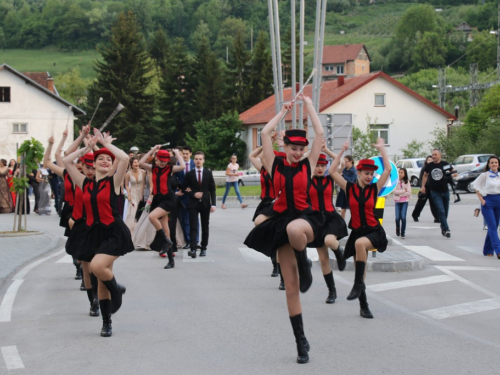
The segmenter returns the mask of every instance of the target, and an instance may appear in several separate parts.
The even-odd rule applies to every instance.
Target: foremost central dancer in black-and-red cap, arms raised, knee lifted
[[[323,218],[309,204],[311,164],[316,165],[321,150],[323,129],[310,98],[304,103],[315,131],[309,156],[302,159],[308,145],[306,131],[287,130],[284,137],[286,159],[275,157],[271,133],[290,104],[274,117],[262,130],[264,158],[273,178],[278,198],[273,205],[273,216],[257,225],[249,233],[245,244],[267,256],[278,253],[281,271],[286,284],[286,298],[290,322],[297,343],[297,362],[309,361],[309,343],[304,335],[299,289],[306,292],[312,284],[311,260],[307,258],[306,245],[314,240],[314,233],[323,227]],[[298,270],[298,273],[297,273]],[[300,287],[299,287],[300,285]]]

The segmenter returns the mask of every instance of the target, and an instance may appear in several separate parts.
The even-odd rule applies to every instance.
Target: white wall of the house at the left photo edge
[[[7,69],[0,70],[0,86],[11,88],[10,103],[0,103],[0,158],[16,158],[16,143],[20,146],[32,137],[46,147],[53,135],[56,147],[68,124],[69,108]],[[71,115],[63,149],[73,142],[73,120]],[[13,134],[13,123],[27,123],[28,132]]]

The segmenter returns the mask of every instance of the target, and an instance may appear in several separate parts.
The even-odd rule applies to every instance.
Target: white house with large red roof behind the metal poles
[[[285,101],[291,101],[291,91],[284,90]],[[304,94],[311,96],[311,91],[312,86],[307,86]],[[447,130],[456,120],[453,114],[383,72],[323,82],[319,112],[350,114],[353,126],[385,139],[391,158],[401,156],[402,149],[413,139],[426,143],[427,148],[436,128]],[[274,116],[274,95],[240,114],[247,152],[260,146],[260,131]],[[287,128],[291,121],[289,113],[285,117]],[[306,113],[302,121],[307,128]]]

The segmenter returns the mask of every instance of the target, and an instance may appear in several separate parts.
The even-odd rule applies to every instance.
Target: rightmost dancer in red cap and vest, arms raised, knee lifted
[[[342,150],[332,163],[331,176],[342,190],[346,192],[349,207],[351,208],[351,221],[349,228],[352,229],[344,251],[344,258],[354,256],[356,263],[356,273],[354,276],[354,286],[347,296],[348,300],[358,298],[360,305],[360,315],[363,318],[371,319],[373,314],[368,308],[366,299],[366,261],[368,250],[377,249],[383,252],[387,248],[387,237],[384,228],[380,225],[375,215],[375,205],[377,203],[378,192],[382,189],[391,175],[391,163],[387,152],[384,149],[384,140],[379,138],[374,144],[384,164],[384,172],[380,175],[376,184],[372,183],[374,172],[378,169],[371,159],[360,160],[356,169],[358,170],[358,180],[356,183],[347,182],[338,173],[337,168],[342,160],[342,154],[349,148],[348,142],[344,143]]]

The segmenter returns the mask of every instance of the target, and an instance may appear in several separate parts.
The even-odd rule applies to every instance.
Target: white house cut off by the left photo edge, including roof
[[[75,116],[85,112],[59,96],[49,73],[21,73],[0,65],[0,157],[16,158],[16,144],[32,137],[45,146],[68,127],[64,147],[73,142]]]

